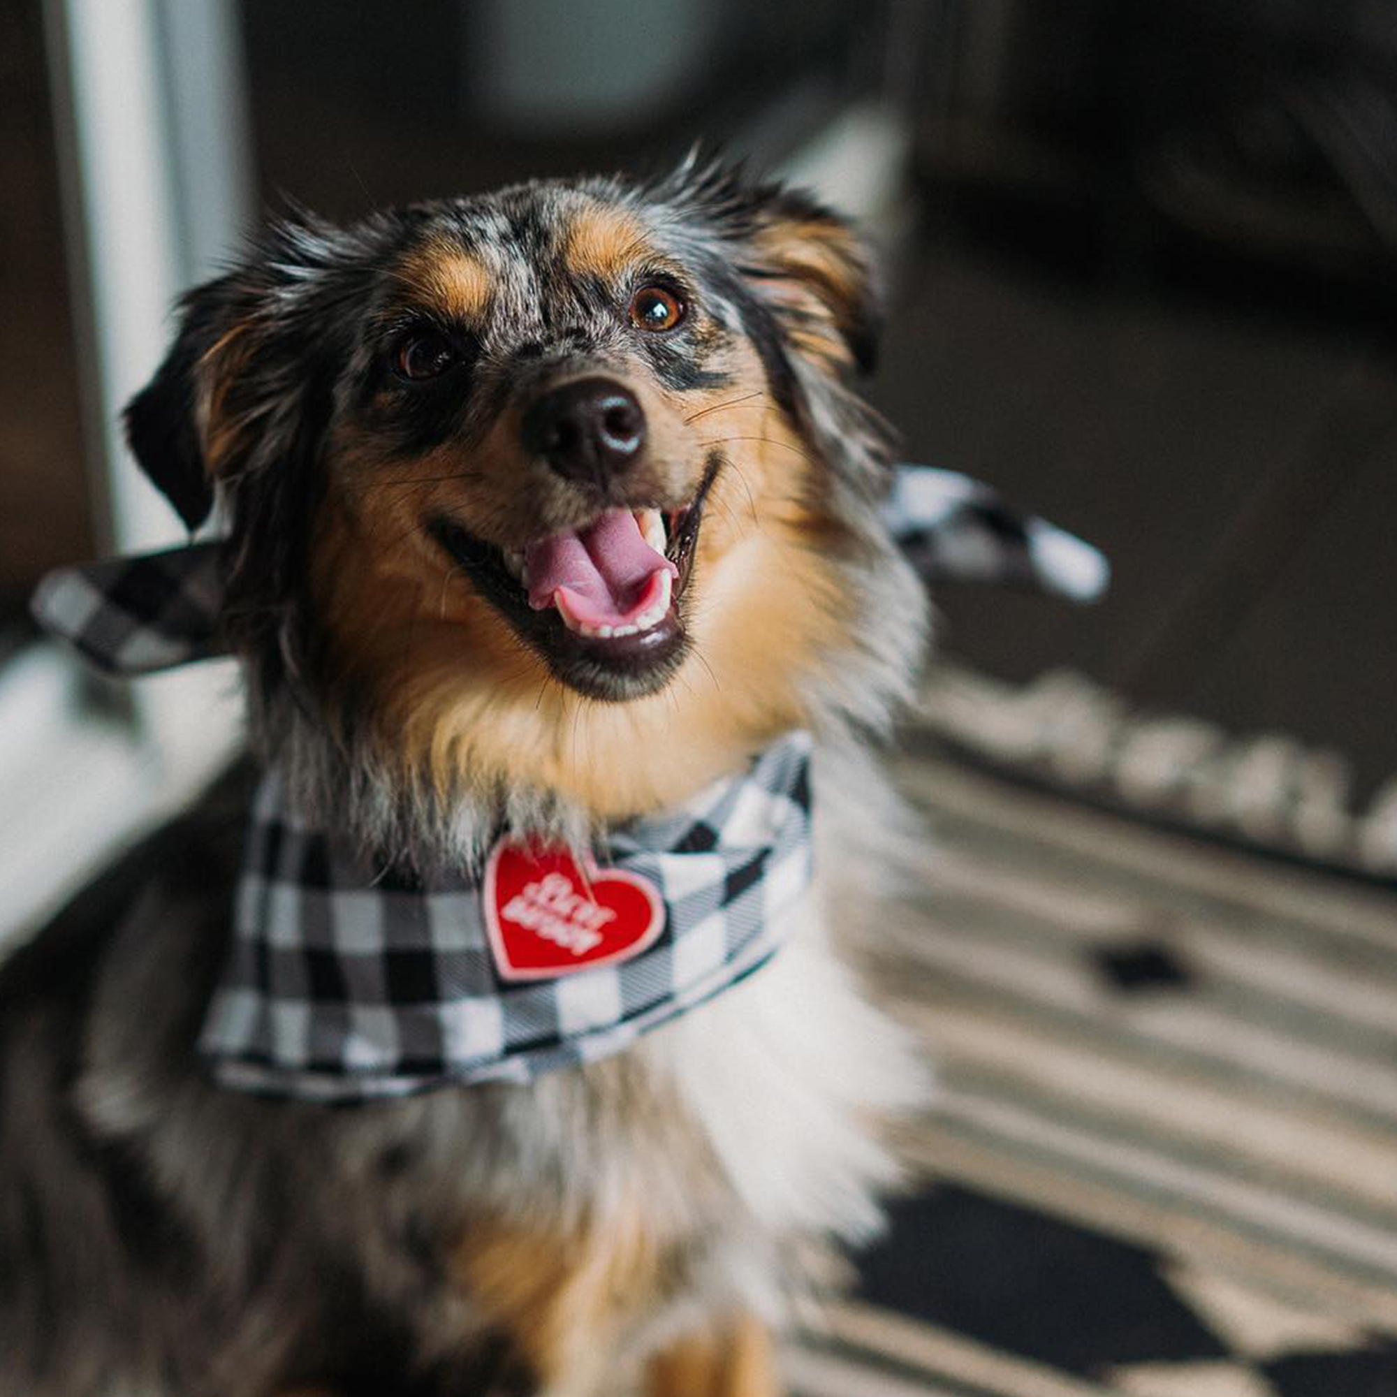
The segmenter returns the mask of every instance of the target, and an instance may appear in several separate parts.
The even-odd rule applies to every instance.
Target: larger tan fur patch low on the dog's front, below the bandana
[[[637,1211],[605,1229],[549,1234],[482,1222],[460,1274],[492,1329],[504,1331],[550,1397],[612,1390],[616,1340],[664,1285],[664,1252]]]

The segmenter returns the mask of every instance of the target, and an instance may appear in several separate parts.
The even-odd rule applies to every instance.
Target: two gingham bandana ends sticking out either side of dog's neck
[[[1034,587],[1073,601],[1105,591],[1109,569],[1090,543],[1013,513],[988,486],[956,471],[898,467],[883,514],[930,583]],[[219,549],[215,539],[60,567],[34,594],[34,616],[109,673],[204,659],[222,650]]]

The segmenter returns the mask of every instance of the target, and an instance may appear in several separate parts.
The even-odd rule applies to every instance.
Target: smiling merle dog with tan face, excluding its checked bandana
[[[855,387],[876,306],[845,221],[694,159],[296,212],[184,298],[129,439],[226,524],[222,640],[305,827],[394,887],[497,872],[502,831],[581,866],[809,733],[813,872],[778,953],[623,1051],[237,1090],[200,1049],[233,773],[0,978],[0,1394],[780,1391],[926,1083],[859,968],[912,830],[870,739],[928,626]]]

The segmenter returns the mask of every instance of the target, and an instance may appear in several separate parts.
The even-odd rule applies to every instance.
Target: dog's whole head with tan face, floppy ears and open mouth
[[[225,502],[267,742],[633,813],[915,658],[872,305],[842,221],[721,168],[299,217],[186,298],[129,433],[186,522]]]

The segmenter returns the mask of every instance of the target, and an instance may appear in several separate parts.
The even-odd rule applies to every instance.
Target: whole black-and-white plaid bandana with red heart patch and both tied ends
[[[1095,549],[951,471],[901,467],[884,520],[928,581],[1105,588]],[[221,548],[59,569],[35,617],[110,673],[219,654]],[[479,883],[365,865],[272,768],[201,1052],[224,1085],[326,1102],[619,1052],[775,953],[810,882],[809,754],[787,735],[742,775],[609,830],[595,865],[506,837]]]

